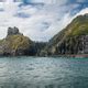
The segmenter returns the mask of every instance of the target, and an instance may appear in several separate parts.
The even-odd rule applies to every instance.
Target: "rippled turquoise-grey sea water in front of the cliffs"
[[[88,58],[0,57],[0,88],[88,88]]]

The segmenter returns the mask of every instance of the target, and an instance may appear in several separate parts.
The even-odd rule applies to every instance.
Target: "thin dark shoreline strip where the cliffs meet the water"
[[[0,57],[76,57],[88,58],[88,54],[59,54],[59,55],[0,55]]]

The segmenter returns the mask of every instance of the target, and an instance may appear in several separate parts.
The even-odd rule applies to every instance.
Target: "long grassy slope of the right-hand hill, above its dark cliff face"
[[[78,50],[78,37],[80,35],[87,34],[88,14],[79,15],[75,18],[73,22],[66,26],[66,29],[62,30],[52,40],[50,40],[50,43],[47,44],[46,48],[42,52],[47,53],[50,55],[51,53],[55,53],[56,48],[61,47],[61,45],[63,45],[64,43],[68,47],[68,50],[74,50],[76,52]]]

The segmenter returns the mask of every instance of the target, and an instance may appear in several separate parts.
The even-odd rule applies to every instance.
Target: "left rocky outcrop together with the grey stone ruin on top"
[[[33,42],[18,28],[9,28],[7,37],[0,41],[0,55],[32,55]]]

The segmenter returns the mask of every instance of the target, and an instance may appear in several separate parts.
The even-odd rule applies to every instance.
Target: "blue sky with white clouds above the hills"
[[[88,0],[0,0],[0,38],[16,26],[33,41],[47,42],[85,13]]]

